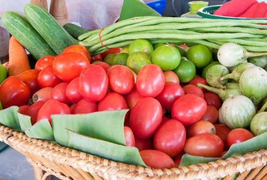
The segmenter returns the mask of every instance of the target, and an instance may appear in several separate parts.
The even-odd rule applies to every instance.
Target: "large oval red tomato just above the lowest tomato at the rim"
[[[183,151],[185,140],[184,125],[175,119],[169,119],[155,132],[153,145],[156,150],[162,151],[170,157],[175,157]]]

